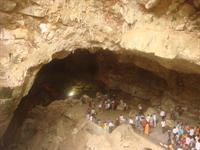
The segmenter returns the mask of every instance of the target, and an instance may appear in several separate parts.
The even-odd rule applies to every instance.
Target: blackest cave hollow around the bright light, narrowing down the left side
[[[96,55],[78,49],[64,59],[54,59],[37,74],[29,94],[22,98],[4,135],[4,144],[9,147],[17,137],[15,133],[27,114],[37,105],[47,106],[52,101],[87,94],[94,97],[97,91],[106,92],[103,82],[95,77],[98,73]],[[10,147],[9,147],[10,148]]]

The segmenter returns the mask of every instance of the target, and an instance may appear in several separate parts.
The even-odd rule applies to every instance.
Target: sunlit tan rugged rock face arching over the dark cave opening
[[[168,69],[199,74],[199,4],[0,0],[0,136],[40,67],[77,48],[128,50]]]

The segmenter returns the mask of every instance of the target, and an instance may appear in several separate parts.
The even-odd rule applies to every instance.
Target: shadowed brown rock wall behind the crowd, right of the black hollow
[[[150,58],[127,51],[98,51],[96,55],[99,66],[97,78],[111,89],[121,89],[143,100],[168,95],[179,104],[200,104],[199,74],[169,70]]]

